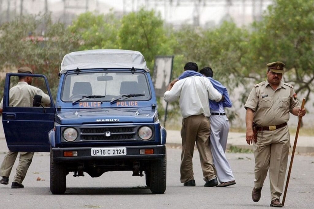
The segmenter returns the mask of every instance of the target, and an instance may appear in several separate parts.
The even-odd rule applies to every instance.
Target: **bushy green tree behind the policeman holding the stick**
[[[313,92],[313,2],[277,0],[261,22],[253,24],[251,58],[257,66],[280,60],[286,65],[284,79],[296,93]]]

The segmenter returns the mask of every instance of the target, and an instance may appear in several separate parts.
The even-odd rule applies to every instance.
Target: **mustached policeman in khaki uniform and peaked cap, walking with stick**
[[[272,62],[267,67],[267,81],[254,85],[244,106],[246,142],[253,144],[255,157],[252,200],[258,202],[261,198],[269,168],[270,206],[282,207],[280,196],[290,147],[289,112],[304,116],[306,110],[300,108],[293,86],[281,81],[284,63]]]

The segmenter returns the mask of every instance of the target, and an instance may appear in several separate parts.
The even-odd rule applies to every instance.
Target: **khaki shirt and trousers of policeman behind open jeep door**
[[[41,101],[43,104],[50,104],[50,97],[45,94],[41,89],[35,86],[28,85],[26,82],[19,82],[16,86],[10,89],[9,105],[10,107],[32,107],[35,95],[40,95],[42,97]],[[0,108],[3,108],[3,98],[0,102]],[[9,177],[18,153],[19,165],[16,168],[16,173],[13,181],[22,184],[30,163],[32,162],[34,156],[33,152],[11,152],[9,150],[1,164],[0,176]]]

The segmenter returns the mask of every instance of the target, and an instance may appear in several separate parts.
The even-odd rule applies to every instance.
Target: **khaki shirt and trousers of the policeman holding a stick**
[[[244,106],[254,111],[253,122],[259,126],[279,125],[289,120],[289,112],[300,103],[290,84],[281,82],[274,91],[268,81],[256,84]],[[269,168],[271,200],[280,199],[284,187],[290,146],[287,126],[273,131],[258,131],[253,144],[255,157],[254,187],[263,186]]]

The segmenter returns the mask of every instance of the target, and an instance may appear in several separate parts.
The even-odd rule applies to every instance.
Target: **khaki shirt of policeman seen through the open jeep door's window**
[[[22,81],[10,89],[10,107],[33,107],[35,95],[41,96],[41,103],[50,104],[50,97],[45,94],[40,88],[28,85]],[[3,98],[0,103],[0,108],[3,109]]]

